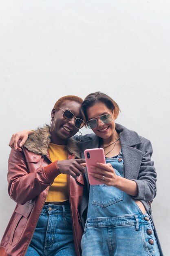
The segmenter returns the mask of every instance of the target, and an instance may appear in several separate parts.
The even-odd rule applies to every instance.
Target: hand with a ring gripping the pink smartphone
[[[115,173],[115,170],[110,163],[96,163],[96,166],[92,165],[91,168],[99,173],[89,173],[91,176],[94,177],[95,180],[98,180],[103,184],[106,184],[107,186],[116,186],[117,181],[119,180],[119,176]]]

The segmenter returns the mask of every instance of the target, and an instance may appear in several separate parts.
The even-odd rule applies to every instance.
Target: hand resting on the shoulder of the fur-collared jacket
[[[14,133],[9,141],[9,146],[15,150],[21,151],[21,147],[24,145],[31,133],[33,133],[31,130],[23,130],[21,132]]]

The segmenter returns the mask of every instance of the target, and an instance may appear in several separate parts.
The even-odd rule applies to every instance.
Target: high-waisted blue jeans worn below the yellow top
[[[76,256],[69,205],[44,205],[25,256]]]

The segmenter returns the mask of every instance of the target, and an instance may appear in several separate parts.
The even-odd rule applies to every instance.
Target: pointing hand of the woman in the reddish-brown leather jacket
[[[85,159],[69,159],[57,161],[57,168],[60,173],[71,175],[73,178],[76,178],[81,173],[85,174],[85,167],[82,165],[86,161]]]

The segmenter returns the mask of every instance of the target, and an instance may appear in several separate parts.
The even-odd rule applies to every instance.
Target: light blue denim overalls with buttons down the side
[[[106,158],[117,175],[124,177],[124,160]],[[113,187],[91,185],[82,256],[159,256],[153,225],[135,200]]]

